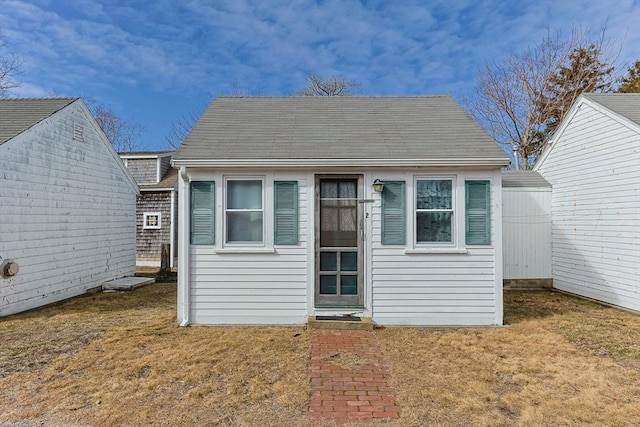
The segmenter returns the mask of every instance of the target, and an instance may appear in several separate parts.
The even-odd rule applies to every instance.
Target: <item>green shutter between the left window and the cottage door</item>
[[[298,181],[274,181],[274,243],[298,244]]]

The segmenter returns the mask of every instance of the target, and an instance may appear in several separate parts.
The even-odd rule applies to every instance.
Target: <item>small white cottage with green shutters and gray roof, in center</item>
[[[222,97],[174,155],[188,324],[502,324],[502,166],[449,96]]]

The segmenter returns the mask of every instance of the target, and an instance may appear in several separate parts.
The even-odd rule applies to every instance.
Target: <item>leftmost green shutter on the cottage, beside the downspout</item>
[[[215,243],[215,182],[191,183],[191,244]]]

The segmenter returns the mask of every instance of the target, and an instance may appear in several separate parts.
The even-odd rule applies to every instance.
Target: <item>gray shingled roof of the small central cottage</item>
[[[174,161],[221,159],[508,164],[506,154],[450,96],[219,97]]]

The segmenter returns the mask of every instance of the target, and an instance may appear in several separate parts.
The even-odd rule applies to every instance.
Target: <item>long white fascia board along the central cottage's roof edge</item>
[[[174,167],[421,167],[421,166],[506,166],[508,158],[488,159],[209,159],[176,160]]]

